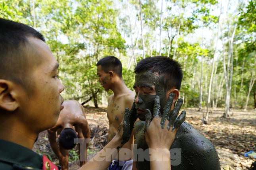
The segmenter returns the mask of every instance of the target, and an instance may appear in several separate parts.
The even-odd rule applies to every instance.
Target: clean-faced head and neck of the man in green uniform
[[[33,146],[63,109],[58,62],[35,29],[0,19],[0,139]]]

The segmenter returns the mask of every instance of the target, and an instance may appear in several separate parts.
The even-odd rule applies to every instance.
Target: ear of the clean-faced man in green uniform
[[[0,79],[0,108],[15,111],[19,107],[17,89],[11,81]]]

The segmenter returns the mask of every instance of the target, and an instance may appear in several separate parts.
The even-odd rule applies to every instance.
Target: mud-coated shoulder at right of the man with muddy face
[[[212,142],[187,122],[181,124],[171,148],[181,148],[183,156],[190,157],[190,161],[194,162],[193,169],[201,169],[197,167],[200,165],[204,169],[220,170],[218,154]]]

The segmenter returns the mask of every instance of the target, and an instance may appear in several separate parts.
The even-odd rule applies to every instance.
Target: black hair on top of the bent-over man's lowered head
[[[77,138],[77,133],[73,128],[64,128],[60,132],[59,144],[64,149],[73,149],[76,144],[74,144],[74,139]]]

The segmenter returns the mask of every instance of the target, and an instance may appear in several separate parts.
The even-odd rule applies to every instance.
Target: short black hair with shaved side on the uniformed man
[[[42,34],[34,28],[0,18],[0,79],[19,83],[25,89],[29,89],[28,81],[31,81],[26,75],[31,70],[27,64],[31,60],[35,60],[36,64],[40,63],[40,60],[27,56],[28,37],[45,41]]]

